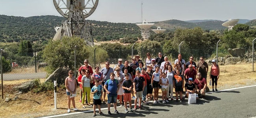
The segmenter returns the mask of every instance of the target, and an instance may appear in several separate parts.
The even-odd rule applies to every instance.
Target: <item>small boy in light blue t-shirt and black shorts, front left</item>
[[[96,105],[98,106],[99,114],[103,116],[104,114],[100,110],[102,87],[99,85],[99,80],[95,80],[95,86],[91,88],[91,94],[93,94],[93,116],[96,116]]]

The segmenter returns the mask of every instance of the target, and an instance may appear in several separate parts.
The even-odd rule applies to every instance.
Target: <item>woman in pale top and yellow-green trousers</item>
[[[93,106],[90,104],[90,93],[91,93],[91,87],[90,84],[93,83],[93,80],[91,79],[90,76],[90,71],[89,69],[85,70],[85,75],[82,77],[82,92],[83,92],[83,97],[82,97],[82,107],[85,108],[84,106],[84,99],[85,99],[85,93],[87,94],[87,101],[89,106]]]

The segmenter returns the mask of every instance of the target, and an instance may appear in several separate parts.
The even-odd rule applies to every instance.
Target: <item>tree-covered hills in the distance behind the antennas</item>
[[[54,37],[54,27],[60,26],[63,17],[46,15],[34,17],[15,17],[0,15],[0,42],[46,41]],[[140,29],[132,23],[113,23],[106,21],[88,20],[92,23],[93,37],[98,41],[106,41],[126,37],[126,35],[140,36]],[[201,27],[204,30],[223,30],[222,21],[184,22],[181,20],[165,20],[154,22],[151,29],[161,26],[163,29],[175,30],[177,28]]]

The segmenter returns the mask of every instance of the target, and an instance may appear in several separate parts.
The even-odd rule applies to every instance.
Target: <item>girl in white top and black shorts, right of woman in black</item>
[[[152,74],[152,79],[151,79],[151,85],[154,88],[154,104],[160,103],[158,101],[158,91],[159,91],[159,84],[160,84],[160,68],[156,67],[156,72]]]

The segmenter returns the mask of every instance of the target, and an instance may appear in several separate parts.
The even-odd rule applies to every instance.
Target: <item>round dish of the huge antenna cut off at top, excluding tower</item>
[[[79,7],[81,13],[83,13],[83,18],[89,17],[98,6],[98,0],[53,0],[54,6],[63,17],[68,18],[69,9],[71,3],[78,1],[77,6]],[[87,2],[86,2],[87,1]]]

